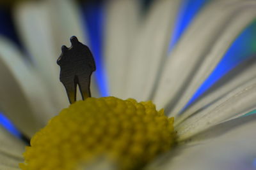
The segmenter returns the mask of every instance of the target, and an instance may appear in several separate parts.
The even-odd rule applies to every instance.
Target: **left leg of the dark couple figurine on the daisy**
[[[68,100],[70,104],[75,103],[76,101],[76,82],[74,78],[65,78],[65,80],[61,80],[61,83],[63,83],[67,95],[68,95]]]

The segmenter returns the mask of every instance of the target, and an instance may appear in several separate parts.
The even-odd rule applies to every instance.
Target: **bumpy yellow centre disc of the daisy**
[[[173,118],[150,101],[88,98],[62,110],[33,136],[20,168],[76,169],[104,156],[117,169],[138,169],[174,143]]]

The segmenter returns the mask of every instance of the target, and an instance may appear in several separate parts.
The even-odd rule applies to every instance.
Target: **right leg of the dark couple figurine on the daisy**
[[[91,92],[90,92],[90,76],[79,76],[78,77],[78,85],[79,85],[79,90],[81,92],[81,96],[84,99],[91,97]]]

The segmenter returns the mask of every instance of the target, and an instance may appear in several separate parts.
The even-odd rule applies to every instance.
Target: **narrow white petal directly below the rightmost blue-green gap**
[[[240,64],[235,69],[230,71],[226,76],[221,78],[219,83],[216,83],[209,92],[200,97],[195,104],[188,108],[188,110],[184,111],[182,114],[177,117],[174,125],[180,124],[184,119],[191,116],[196,111],[199,111],[202,108],[206,108],[210,104],[220,99],[220,97],[224,96],[228,92],[236,89],[237,87],[243,85],[249,80],[252,80],[256,77],[256,59],[246,60],[243,64]]]

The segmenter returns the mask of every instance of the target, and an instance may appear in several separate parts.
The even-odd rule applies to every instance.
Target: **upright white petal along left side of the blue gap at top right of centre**
[[[131,63],[128,65],[125,97],[141,101],[149,99],[152,94],[167,57],[179,4],[179,0],[154,1],[152,4],[129,53]]]

